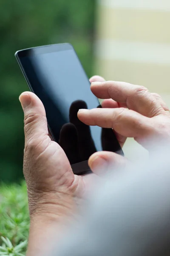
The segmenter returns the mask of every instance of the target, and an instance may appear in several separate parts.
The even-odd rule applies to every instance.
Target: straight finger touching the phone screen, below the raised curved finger
[[[126,108],[80,109],[78,118],[86,125],[113,128],[125,137],[142,138],[153,134],[151,119]]]

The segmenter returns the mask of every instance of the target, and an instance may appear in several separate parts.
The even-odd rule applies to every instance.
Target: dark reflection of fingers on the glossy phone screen
[[[70,106],[70,123],[62,126],[59,144],[65,151],[71,164],[88,160],[96,152],[91,130],[88,125],[82,123],[77,113],[79,109],[87,109],[87,104],[82,100],[74,101]]]

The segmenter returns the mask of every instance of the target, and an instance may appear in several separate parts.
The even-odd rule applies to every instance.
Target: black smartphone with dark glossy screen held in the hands
[[[54,44],[15,53],[29,89],[42,101],[51,139],[59,143],[74,174],[91,172],[88,158],[96,151],[123,155],[112,129],[88,126],[77,118],[80,108],[101,107],[71,44]]]

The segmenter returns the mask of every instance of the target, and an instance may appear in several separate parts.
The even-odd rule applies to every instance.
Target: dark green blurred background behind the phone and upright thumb
[[[69,42],[90,77],[95,4],[95,0],[0,0],[0,181],[23,178],[23,111],[18,97],[28,88],[14,53]]]

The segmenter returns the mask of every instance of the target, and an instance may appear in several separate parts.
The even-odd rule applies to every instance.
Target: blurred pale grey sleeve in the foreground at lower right
[[[111,172],[95,189],[57,256],[166,256],[170,244],[170,160]]]

